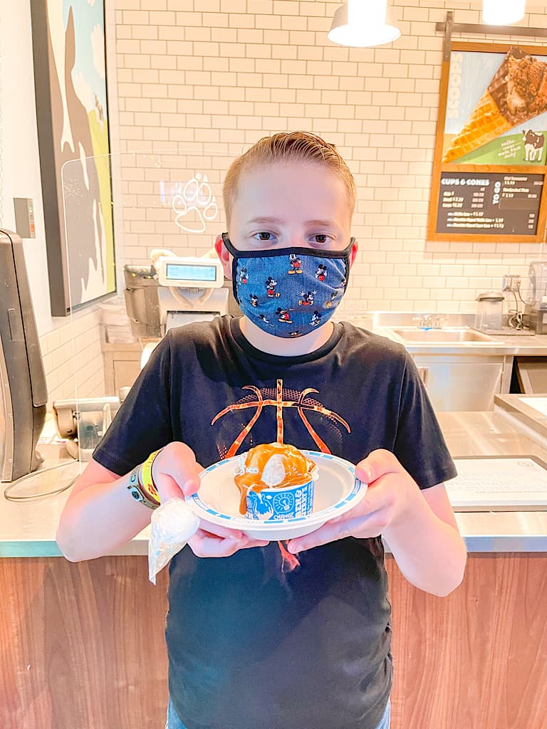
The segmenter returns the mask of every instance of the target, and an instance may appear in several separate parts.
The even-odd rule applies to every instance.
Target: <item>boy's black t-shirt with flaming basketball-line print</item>
[[[313,406],[313,407],[312,407]],[[456,471],[405,349],[335,324],[312,354],[252,347],[231,316],[171,330],[93,458],[123,475],[181,440],[204,467],[277,440],[354,464],[395,453],[420,488]],[[347,538],[282,569],[274,542],[171,560],[169,690],[188,729],[374,729],[392,680],[381,538]]]

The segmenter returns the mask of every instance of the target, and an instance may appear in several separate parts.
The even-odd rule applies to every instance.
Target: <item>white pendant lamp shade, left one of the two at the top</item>
[[[335,10],[327,38],[338,45],[371,48],[392,43],[400,37],[392,10],[387,2],[353,0]]]

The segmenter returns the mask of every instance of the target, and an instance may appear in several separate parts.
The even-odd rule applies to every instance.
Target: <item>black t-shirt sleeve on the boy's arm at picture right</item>
[[[457,475],[414,359],[408,353],[394,451],[420,488],[430,488]]]

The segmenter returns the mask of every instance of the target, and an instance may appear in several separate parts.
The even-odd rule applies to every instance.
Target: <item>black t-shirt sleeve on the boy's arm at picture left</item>
[[[93,459],[118,475],[131,471],[147,456],[171,443],[171,338],[154,348]]]

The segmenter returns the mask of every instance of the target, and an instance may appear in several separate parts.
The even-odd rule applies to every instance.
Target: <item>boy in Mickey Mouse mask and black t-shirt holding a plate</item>
[[[215,248],[243,316],[168,332],[74,486],[58,543],[73,561],[107,553],[150,521],[154,488],[161,501],[193,494],[201,467],[280,432],[352,461],[365,499],[287,542],[292,572],[276,543],[203,522],[171,560],[166,726],[387,729],[379,535],[414,585],[453,590],[465,566],[443,486],[454,464],[404,348],[331,319],[357,254],[354,180],[335,148],[262,139],[231,165],[224,198]]]

